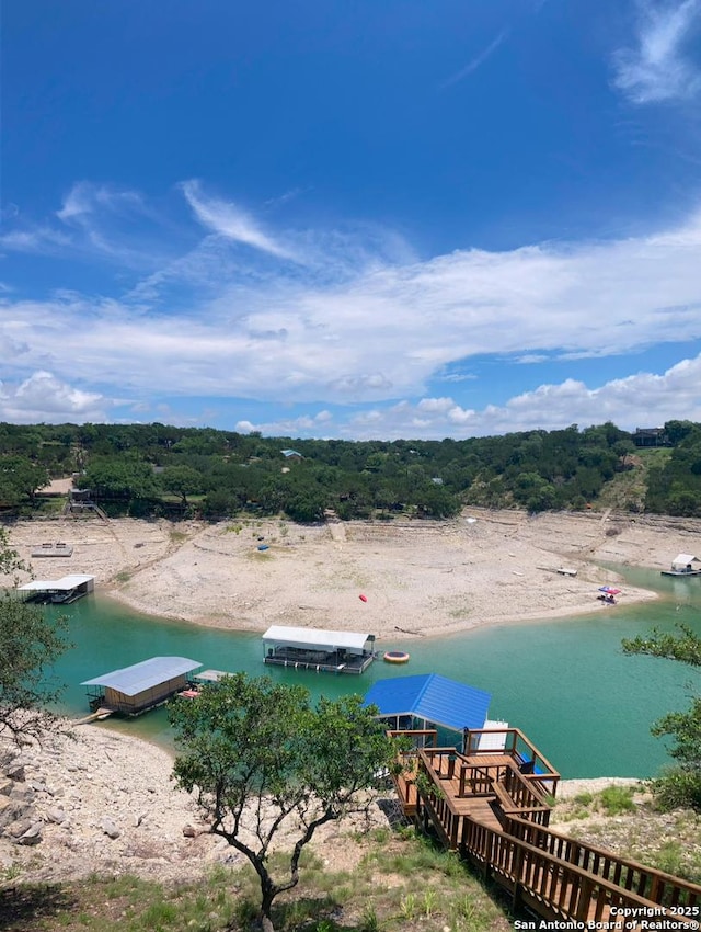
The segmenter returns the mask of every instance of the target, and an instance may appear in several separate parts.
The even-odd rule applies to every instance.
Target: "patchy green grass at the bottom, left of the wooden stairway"
[[[350,838],[334,844],[356,844]],[[510,932],[458,857],[423,837],[367,834],[347,868],[330,871],[306,852],[299,885],[274,907],[277,932]],[[359,860],[359,863],[358,863]],[[281,872],[285,857],[274,854]],[[166,885],[135,876],[26,885],[0,894],[0,927],[13,932],[249,932],[256,924],[257,877],[217,866],[199,883]],[[13,908],[14,907],[14,908]]]

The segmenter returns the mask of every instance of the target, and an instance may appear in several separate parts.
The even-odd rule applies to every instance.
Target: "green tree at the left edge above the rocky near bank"
[[[25,569],[0,528],[0,571]],[[16,583],[15,583],[16,584]],[[21,601],[16,592],[0,594],[0,737],[16,742],[39,737],[55,721],[48,706],[61,690],[51,672],[67,647],[65,623]]]

